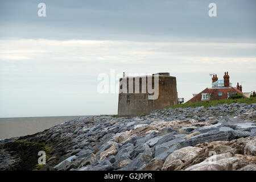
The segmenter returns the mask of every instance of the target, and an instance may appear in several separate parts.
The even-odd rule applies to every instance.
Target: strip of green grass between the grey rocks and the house
[[[253,104],[256,103],[256,97],[251,98],[238,98],[234,100],[221,100],[221,101],[200,101],[200,102],[189,102],[184,104],[177,104],[170,106],[171,108],[186,108],[186,107],[209,107],[209,106],[216,106],[218,104],[232,104],[232,103],[245,103],[245,104]],[[169,107],[169,108],[170,108]]]

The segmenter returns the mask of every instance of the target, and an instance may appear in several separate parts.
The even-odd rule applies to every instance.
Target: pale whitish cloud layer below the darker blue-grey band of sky
[[[256,86],[254,43],[2,39],[0,47],[0,115],[5,116],[22,113],[20,107],[29,115],[31,106],[23,104],[27,98],[36,103],[35,113],[44,110],[51,115],[47,103],[61,108],[67,102],[76,104],[79,112],[68,104],[56,113],[102,114],[106,105],[97,103],[104,99],[107,114],[115,114],[118,95],[97,93],[98,74],[110,74],[110,69],[116,74],[170,72],[176,76],[179,97],[185,100],[210,86],[209,73],[221,78],[229,71],[230,81],[246,81],[245,90]],[[92,107],[86,106],[83,113],[86,103]]]

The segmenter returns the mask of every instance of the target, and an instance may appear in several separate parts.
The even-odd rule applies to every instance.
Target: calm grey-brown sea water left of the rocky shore
[[[30,135],[81,116],[0,118],[0,139]]]

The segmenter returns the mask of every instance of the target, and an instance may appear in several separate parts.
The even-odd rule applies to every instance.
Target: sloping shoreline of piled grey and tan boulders
[[[80,117],[1,140],[0,170],[227,170],[226,164],[232,170],[256,169],[255,114],[256,104],[233,103],[138,117]],[[38,165],[38,150],[46,151],[46,165]],[[204,165],[209,150],[220,156],[218,168]],[[193,158],[184,158],[188,152]]]

